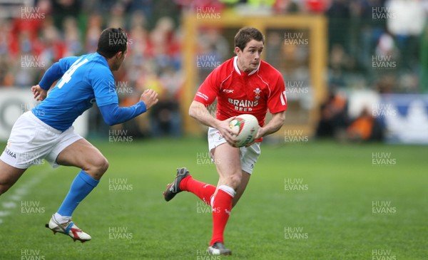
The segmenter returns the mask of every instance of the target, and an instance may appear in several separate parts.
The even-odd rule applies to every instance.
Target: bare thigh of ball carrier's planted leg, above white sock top
[[[226,184],[236,189],[242,177],[239,148],[224,143],[211,150],[211,153],[220,175],[219,185]]]

